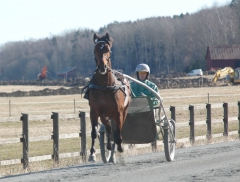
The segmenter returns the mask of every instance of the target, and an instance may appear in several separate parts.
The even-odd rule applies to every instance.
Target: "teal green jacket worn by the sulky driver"
[[[149,86],[150,88],[152,88],[154,91],[158,93],[158,87],[153,82],[149,80],[145,80],[145,81],[139,80],[139,81],[142,83],[145,83],[147,86]],[[153,101],[153,106],[158,105],[159,99],[156,98],[155,94],[152,93],[147,88],[137,84],[136,82],[131,82],[131,89],[132,89],[132,97],[149,96]]]

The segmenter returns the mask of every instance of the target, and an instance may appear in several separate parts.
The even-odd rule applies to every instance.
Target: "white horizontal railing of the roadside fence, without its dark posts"
[[[230,103],[229,106],[237,106],[236,103]],[[212,108],[222,108],[222,104],[212,104]],[[176,107],[177,110],[188,110],[188,107]],[[206,105],[197,105],[195,106],[196,109],[206,109]],[[166,110],[170,111],[170,108],[166,108]],[[89,117],[88,113],[85,113],[85,117]],[[79,119],[79,114],[60,114],[59,115],[60,119],[66,119],[66,118],[75,118]],[[37,120],[50,120],[51,116],[50,115],[38,115],[38,116],[29,116],[29,121],[37,121]],[[5,118],[0,118],[0,122],[16,122],[20,120],[19,117],[5,117]],[[238,121],[238,117],[231,117],[228,118],[228,121]],[[212,123],[222,123],[223,119],[213,119]],[[204,121],[197,121],[194,123],[194,125],[204,125],[206,124],[206,120]],[[189,122],[181,122],[181,123],[176,123],[177,127],[186,127],[189,126]],[[231,131],[228,133],[228,136],[230,135],[236,135],[238,134],[238,131]],[[90,136],[90,132],[86,132],[86,136]],[[212,134],[212,138],[217,138],[217,137],[222,137],[223,133],[218,133],[218,134]],[[60,134],[59,139],[67,139],[67,138],[79,138],[80,135],[79,133],[70,133],[70,134]],[[206,135],[203,136],[196,136],[195,140],[204,140],[207,139]],[[30,142],[36,142],[36,141],[46,141],[46,140],[52,140],[52,136],[38,136],[38,137],[29,137]],[[189,142],[189,138],[181,138],[178,139],[178,142]],[[10,144],[10,143],[19,143],[20,138],[7,138],[7,139],[0,139],[0,145],[3,144]],[[158,142],[158,145],[162,145],[162,142]],[[128,145],[125,145],[127,147]],[[149,147],[149,144],[137,144],[135,145],[137,148],[140,147]],[[96,153],[100,153],[99,150],[96,151]],[[87,152],[87,155],[89,155],[89,152]],[[81,156],[81,152],[70,152],[70,153],[61,153],[59,154],[59,158],[68,158],[68,157],[76,157],[76,156]],[[43,156],[35,156],[35,157],[29,157],[29,162],[35,162],[35,161],[43,161],[43,160],[51,160],[52,155],[43,155]],[[12,164],[20,164],[21,159],[10,159],[10,160],[2,160],[0,161],[0,166],[4,165],[12,165]]]

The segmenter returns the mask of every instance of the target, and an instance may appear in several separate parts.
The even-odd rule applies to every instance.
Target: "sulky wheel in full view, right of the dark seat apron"
[[[176,135],[176,128],[175,128],[175,121],[169,120],[169,126],[164,128],[164,136],[163,136],[163,143],[164,143],[164,151],[165,156],[168,162],[174,160],[175,156],[175,135]]]

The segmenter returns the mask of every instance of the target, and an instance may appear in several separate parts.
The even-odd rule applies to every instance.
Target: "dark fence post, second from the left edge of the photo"
[[[58,125],[58,113],[52,112],[51,119],[53,119],[53,135],[51,138],[53,139],[53,155],[52,159],[55,164],[59,164],[59,125]]]

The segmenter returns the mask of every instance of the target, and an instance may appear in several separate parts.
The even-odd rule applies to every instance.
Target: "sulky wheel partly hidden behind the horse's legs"
[[[107,149],[107,135],[105,132],[100,132],[99,144],[100,144],[100,153],[101,153],[102,161],[104,163],[107,163],[111,156],[111,150]]]

